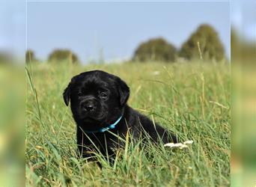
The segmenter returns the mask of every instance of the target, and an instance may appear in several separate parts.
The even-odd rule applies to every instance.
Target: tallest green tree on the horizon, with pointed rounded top
[[[215,29],[203,24],[183,43],[179,55],[189,60],[204,58],[219,61],[225,58],[225,50]]]

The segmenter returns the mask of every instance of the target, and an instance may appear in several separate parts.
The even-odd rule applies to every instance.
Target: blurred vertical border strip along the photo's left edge
[[[25,9],[0,1],[0,186],[25,186]]]

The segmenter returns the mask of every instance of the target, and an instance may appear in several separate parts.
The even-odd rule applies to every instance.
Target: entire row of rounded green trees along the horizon
[[[178,50],[163,37],[142,42],[135,49],[132,61],[190,61],[192,59],[221,61],[225,59],[225,49],[216,30],[207,24],[200,25]],[[38,61],[32,50],[25,54],[26,63]],[[69,49],[55,49],[48,57],[49,62],[70,61],[79,63],[79,58]]]

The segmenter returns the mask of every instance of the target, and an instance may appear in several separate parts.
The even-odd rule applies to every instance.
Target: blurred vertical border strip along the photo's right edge
[[[255,10],[255,1],[231,1],[232,186],[256,186]]]

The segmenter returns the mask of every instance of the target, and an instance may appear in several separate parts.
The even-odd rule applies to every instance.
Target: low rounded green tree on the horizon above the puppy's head
[[[79,63],[79,58],[69,49],[55,49],[48,57],[49,62],[69,61],[72,64]]]

